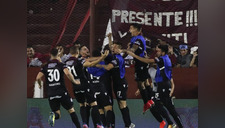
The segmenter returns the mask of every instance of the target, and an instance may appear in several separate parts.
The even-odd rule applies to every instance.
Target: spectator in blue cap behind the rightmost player
[[[180,55],[177,58],[177,66],[176,67],[190,67],[192,55],[188,53],[187,45],[180,45]]]

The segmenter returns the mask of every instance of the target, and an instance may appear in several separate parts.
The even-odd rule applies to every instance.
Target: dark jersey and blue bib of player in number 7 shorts
[[[125,62],[123,57],[120,54],[113,55],[110,63],[114,66],[111,69],[113,84],[121,84],[125,80]]]

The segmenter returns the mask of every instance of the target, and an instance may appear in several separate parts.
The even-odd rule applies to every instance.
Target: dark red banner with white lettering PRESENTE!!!
[[[139,23],[145,37],[198,45],[197,0],[110,0],[110,7],[112,32],[118,40],[128,41],[129,24]]]

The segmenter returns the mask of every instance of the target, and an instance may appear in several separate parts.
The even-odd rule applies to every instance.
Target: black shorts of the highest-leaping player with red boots
[[[147,66],[135,66],[135,80],[136,81],[145,81],[150,78],[148,73],[148,65]]]

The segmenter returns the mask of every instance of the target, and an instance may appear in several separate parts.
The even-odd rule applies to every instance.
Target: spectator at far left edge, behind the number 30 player
[[[41,53],[36,53],[32,46],[27,46],[27,67],[40,67],[42,65]]]

